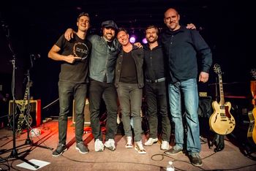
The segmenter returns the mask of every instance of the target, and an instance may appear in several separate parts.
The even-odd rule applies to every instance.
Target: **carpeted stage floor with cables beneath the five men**
[[[209,148],[208,143],[202,141],[200,156],[203,159],[203,166],[194,167],[184,153],[166,156],[164,151],[160,150],[159,142],[146,146],[146,154],[139,154],[134,148],[127,149],[124,147],[126,139],[122,135],[115,137],[116,151],[105,149],[103,152],[95,152],[93,136],[90,132],[86,132],[83,138],[90,152],[81,154],[75,150],[75,127],[72,119],[69,119],[68,123],[69,149],[62,156],[53,157],[50,148],[56,148],[58,144],[58,121],[49,121],[37,129],[40,129],[42,134],[31,140],[47,148],[24,145],[27,139],[26,132],[16,137],[15,146],[18,156],[25,155],[26,160],[37,159],[50,163],[39,170],[166,170],[168,161],[173,161],[176,170],[256,170],[256,161],[244,156],[241,148],[227,137],[225,137],[225,148],[219,152],[214,152],[215,146]],[[146,142],[147,137],[148,135],[143,136],[143,142]],[[172,143],[170,144],[173,145]],[[0,129],[0,170],[26,170],[17,166],[24,161],[9,157],[12,148],[12,130]],[[5,158],[8,158],[7,161],[4,161]]]

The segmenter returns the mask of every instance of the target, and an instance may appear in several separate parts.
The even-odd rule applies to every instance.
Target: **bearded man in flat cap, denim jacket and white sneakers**
[[[92,45],[89,65],[89,108],[91,113],[91,129],[95,139],[95,151],[104,151],[104,146],[111,151],[116,150],[114,137],[116,134],[118,107],[113,78],[116,58],[120,49],[120,44],[115,39],[117,28],[113,20],[106,20],[102,22],[102,37],[96,34],[87,37]],[[72,37],[72,29],[69,28],[65,33],[65,37],[69,39],[70,36]],[[99,109],[102,96],[108,110],[107,132],[104,145],[99,123]]]

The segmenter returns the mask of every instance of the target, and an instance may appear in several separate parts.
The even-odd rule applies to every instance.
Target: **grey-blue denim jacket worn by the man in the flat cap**
[[[113,83],[116,58],[121,45],[117,39],[114,39],[114,50],[109,50],[107,42],[103,37],[91,35],[87,39],[91,42],[89,77],[93,80],[103,82],[106,75],[107,83]]]

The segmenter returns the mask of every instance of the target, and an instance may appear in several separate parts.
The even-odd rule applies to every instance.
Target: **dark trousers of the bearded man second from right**
[[[157,138],[158,115],[162,117],[162,140],[170,141],[170,119],[167,110],[165,81],[145,84],[147,112],[149,116],[149,137]]]

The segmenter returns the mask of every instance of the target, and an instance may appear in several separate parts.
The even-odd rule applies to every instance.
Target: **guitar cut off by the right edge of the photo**
[[[255,142],[256,144],[256,122],[255,122],[255,118],[256,118],[256,69],[252,69],[251,71],[252,73],[252,77],[255,80],[251,81],[251,92],[252,92],[252,104],[254,106],[252,111],[249,111],[248,113],[248,117],[249,117],[249,129],[247,132],[247,138],[249,140],[253,140],[253,142]]]

